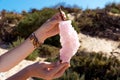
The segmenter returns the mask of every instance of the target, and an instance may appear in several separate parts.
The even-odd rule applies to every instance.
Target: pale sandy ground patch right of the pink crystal
[[[80,50],[96,53],[102,52],[107,56],[110,56],[112,53],[114,56],[120,57],[120,48],[118,48],[120,41],[90,37],[82,33],[79,33],[78,36],[81,42]]]

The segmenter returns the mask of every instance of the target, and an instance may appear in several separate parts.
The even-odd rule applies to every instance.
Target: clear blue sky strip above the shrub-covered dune
[[[16,12],[29,11],[31,8],[42,9],[62,2],[65,5],[77,5],[82,9],[95,9],[96,7],[104,8],[111,2],[120,3],[120,0],[0,0],[0,11],[3,9]]]

